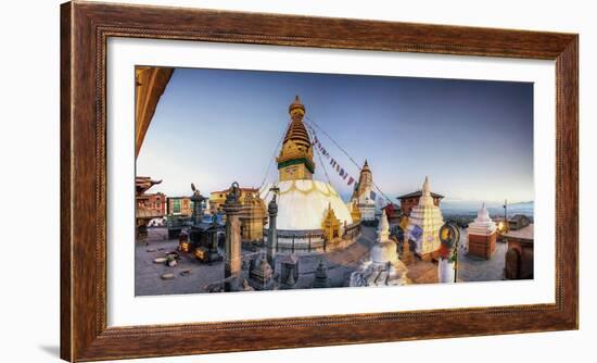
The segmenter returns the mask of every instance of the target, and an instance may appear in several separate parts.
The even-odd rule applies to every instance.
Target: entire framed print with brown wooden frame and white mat
[[[577,35],[61,12],[63,359],[577,328]]]

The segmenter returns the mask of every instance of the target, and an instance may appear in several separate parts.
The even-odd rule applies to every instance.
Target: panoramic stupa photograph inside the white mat
[[[533,83],[135,82],[137,297],[533,279]]]

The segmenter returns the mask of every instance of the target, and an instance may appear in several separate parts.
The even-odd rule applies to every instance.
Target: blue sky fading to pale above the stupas
[[[162,96],[137,175],[152,191],[206,195],[258,187],[300,95],[307,116],[353,159],[365,159],[389,197],[421,188],[453,201],[533,200],[533,85],[530,83],[177,68]],[[358,170],[321,133],[330,154]],[[331,184],[352,187],[326,162]],[[277,178],[272,164],[268,182]],[[327,180],[316,157],[315,178]]]

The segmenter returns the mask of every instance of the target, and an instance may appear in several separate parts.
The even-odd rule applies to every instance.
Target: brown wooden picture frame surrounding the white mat
[[[105,65],[110,37],[555,60],[556,302],[107,327]],[[61,48],[63,359],[90,361],[577,328],[577,35],[75,1],[61,8]]]

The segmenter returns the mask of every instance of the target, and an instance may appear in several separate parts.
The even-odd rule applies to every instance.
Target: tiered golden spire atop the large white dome
[[[303,123],[305,105],[295,97],[288,109],[291,117],[284,135],[280,155],[277,158],[280,180],[313,179],[315,163],[309,134]]]

